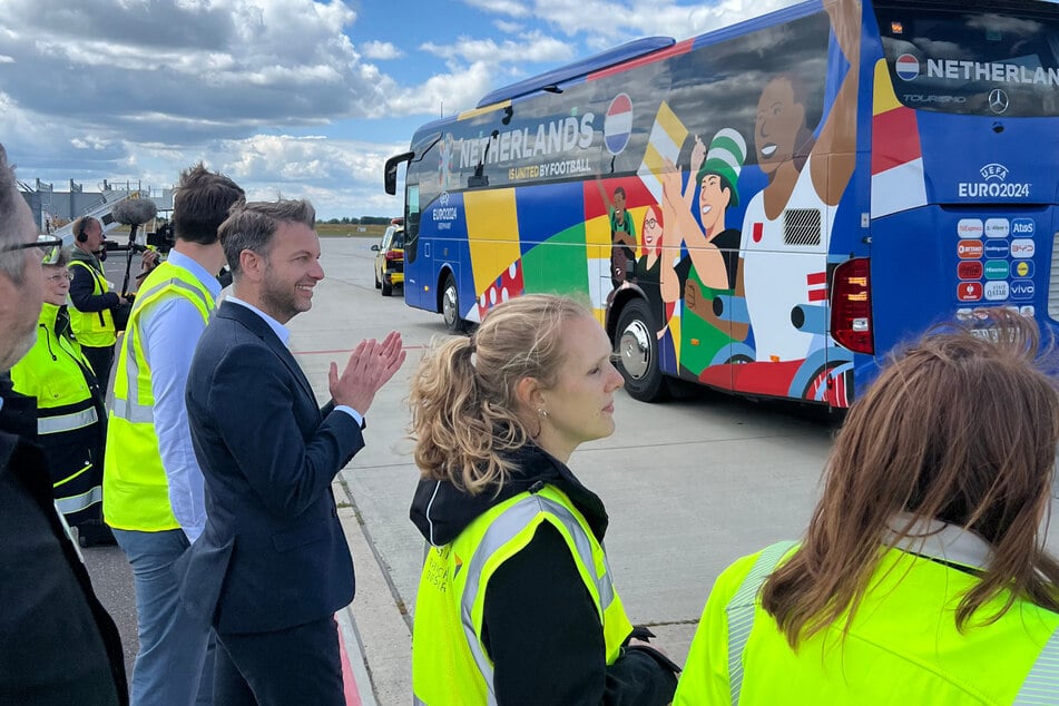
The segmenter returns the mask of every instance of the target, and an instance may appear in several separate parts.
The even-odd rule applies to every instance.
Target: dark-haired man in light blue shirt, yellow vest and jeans
[[[140,285],[115,373],[104,517],[133,567],[139,653],[134,706],[212,703],[209,630],[178,604],[173,563],[206,526],[203,472],[184,400],[225,264],[217,227],[243,189],[203,165],[174,194],[176,244]],[[149,394],[146,388],[149,386]]]

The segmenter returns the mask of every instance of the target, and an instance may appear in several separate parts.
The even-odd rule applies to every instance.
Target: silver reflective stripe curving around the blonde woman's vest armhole
[[[504,510],[490,523],[489,529],[486,530],[486,535],[474,550],[474,556],[471,557],[471,560],[468,562],[468,573],[464,579],[467,588],[460,601],[463,618],[463,634],[464,637],[467,637],[467,644],[471,649],[471,655],[473,655],[474,661],[478,664],[478,668],[486,679],[486,685],[489,688],[490,705],[497,703],[492,684],[492,665],[489,661],[489,657],[482,651],[478,635],[474,631],[474,620],[472,618],[474,601],[481,588],[482,570],[493,553],[514,539],[514,537],[526,529],[533,518],[542,511],[556,517],[562,526],[566,527],[570,537],[573,538],[578,560],[581,565],[586,567],[596,566],[592,558],[592,546],[585,535],[580,522],[577,521],[577,518],[575,518],[567,508],[553,500],[542,498],[539,494],[529,496]],[[595,573],[595,570],[592,572]],[[601,614],[606,611],[614,601],[614,585],[610,581],[609,566],[604,575],[596,580],[596,588],[599,596],[600,620],[602,620]]]

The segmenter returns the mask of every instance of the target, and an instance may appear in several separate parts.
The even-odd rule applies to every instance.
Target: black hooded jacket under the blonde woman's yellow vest
[[[513,459],[519,471],[494,494],[465,493],[448,481],[420,481],[412,522],[434,546],[449,543],[478,516],[546,484],[565,492],[602,541],[607,511],[569,468],[536,445]],[[499,704],[668,704],[676,665],[649,647],[626,647],[606,664],[602,626],[558,530],[542,523],[533,539],[497,569],[486,589],[482,640],[493,660]],[[630,637],[649,637],[636,628]]]

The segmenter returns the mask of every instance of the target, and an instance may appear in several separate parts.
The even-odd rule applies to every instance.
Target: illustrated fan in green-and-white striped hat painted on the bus
[[[702,139],[695,138],[692,149],[690,173],[683,198],[674,203],[667,190],[667,206],[675,216],[677,234],[684,241],[687,256],[675,266],[665,263],[670,273],[664,278],[683,283],[683,287],[663,286],[663,296],[684,297],[680,332],[680,365],[696,376],[714,362],[717,352],[733,339],[746,337],[746,322],[723,321],[714,314],[713,300],[717,294],[739,295],[738,259],[742,234],[738,228],[725,227],[725,213],[739,204],[738,178],[746,159],[746,141],[738,131],[724,128],[714,135],[707,150]],[[692,208],[698,193],[698,220]],[[699,226],[702,224],[702,226]],[[667,276],[668,275],[668,276]],[[727,282],[727,290],[717,290],[706,282]],[[666,301],[671,301],[667,298]],[[692,341],[696,343],[690,344]]]

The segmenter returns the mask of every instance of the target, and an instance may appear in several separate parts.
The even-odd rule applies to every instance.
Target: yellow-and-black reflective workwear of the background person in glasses
[[[45,303],[37,342],[11,367],[16,392],[37,399],[38,441],[48,459],[56,504],[71,524],[98,519],[102,500],[102,393],[69,332],[66,307]],[[94,514],[95,518],[88,517]]]

